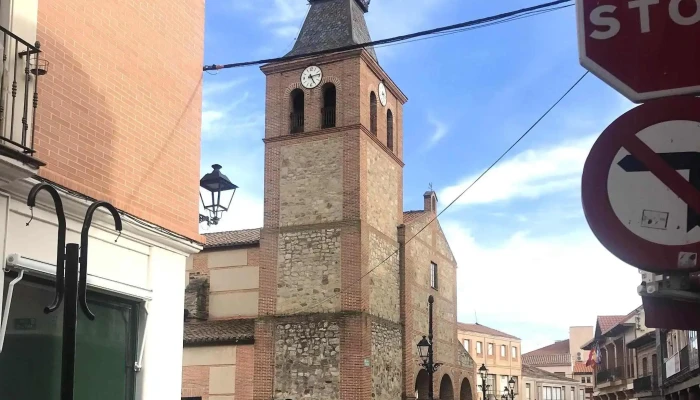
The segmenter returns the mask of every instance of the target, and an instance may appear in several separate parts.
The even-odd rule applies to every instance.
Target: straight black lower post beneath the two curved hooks
[[[73,400],[75,385],[75,333],[78,325],[78,248],[76,243],[68,243],[66,245],[61,400]]]

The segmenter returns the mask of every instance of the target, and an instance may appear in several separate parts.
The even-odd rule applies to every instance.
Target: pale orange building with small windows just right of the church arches
[[[489,396],[500,398],[508,381],[515,381],[515,392],[523,393],[522,359],[520,339],[499,330],[478,323],[457,325],[457,337],[472,356],[476,365],[488,368],[487,385]],[[481,376],[477,377],[481,385]],[[479,398],[483,397],[477,390]]]

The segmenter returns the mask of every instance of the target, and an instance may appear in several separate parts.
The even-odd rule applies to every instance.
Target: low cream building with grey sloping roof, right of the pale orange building
[[[571,379],[523,364],[523,391],[520,400],[584,400],[585,386]]]

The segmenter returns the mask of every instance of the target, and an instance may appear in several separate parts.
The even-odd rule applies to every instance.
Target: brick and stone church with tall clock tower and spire
[[[289,55],[369,41],[368,6],[310,1]],[[264,226],[245,260],[236,248],[244,232],[210,235],[207,246],[217,247],[193,257],[182,396],[425,399],[416,345],[428,334],[432,295],[435,396],[472,398],[474,362],[457,339],[457,264],[435,220],[437,196],[402,209],[407,97],[369,47],[261,69]]]

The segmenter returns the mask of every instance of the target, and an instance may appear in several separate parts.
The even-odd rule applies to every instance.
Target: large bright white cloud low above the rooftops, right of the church
[[[458,310],[469,318],[509,326],[544,325],[512,333],[523,346],[547,344],[569,326],[594,325],[596,315],[626,314],[639,306],[637,270],[610,254],[587,229],[534,237],[516,232],[499,244],[478,243],[456,221],[442,223],[458,269]]]

